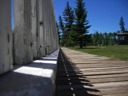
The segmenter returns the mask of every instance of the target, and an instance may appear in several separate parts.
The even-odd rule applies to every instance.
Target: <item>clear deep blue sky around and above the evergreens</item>
[[[66,1],[70,6],[75,7],[76,0],[54,0],[55,16],[58,16],[66,6]],[[120,17],[124,18],[125,28],[128,29],[128,0],[84,0],[88,11],[87,19],[90,22],[90,33],[116,32],[120,30]]]

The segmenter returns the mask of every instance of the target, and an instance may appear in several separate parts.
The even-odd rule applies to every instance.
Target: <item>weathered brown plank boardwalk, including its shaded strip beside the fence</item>
[[[128,96],[128,62],[62,51],[56,96]]]

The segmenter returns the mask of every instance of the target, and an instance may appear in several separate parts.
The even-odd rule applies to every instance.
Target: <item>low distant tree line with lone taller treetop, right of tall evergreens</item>
[[[88,42],[88,45],[102,46],[102,45],[115,45],[118,44],[118,39],[122,37],[117,37],[117,33],[128,33],[128,30],[125,28],[125,23],[123,17],[119,21],[120,30],[117,32],[98,32],[91,34],[91,40]],[[125,36],[124,36],[125,37]],[[128,37],[123,38],[128,40]]]

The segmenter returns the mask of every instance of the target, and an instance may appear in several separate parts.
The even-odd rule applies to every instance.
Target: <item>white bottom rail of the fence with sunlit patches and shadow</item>
[[[0,96],[53,96],[57,60],[45,58],[0,75]]]

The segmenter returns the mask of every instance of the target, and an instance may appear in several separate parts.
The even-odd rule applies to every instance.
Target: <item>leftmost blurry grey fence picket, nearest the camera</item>
[[[13,61],[10,9],[10,0],[0,0],[0,74],[12,69]]]

